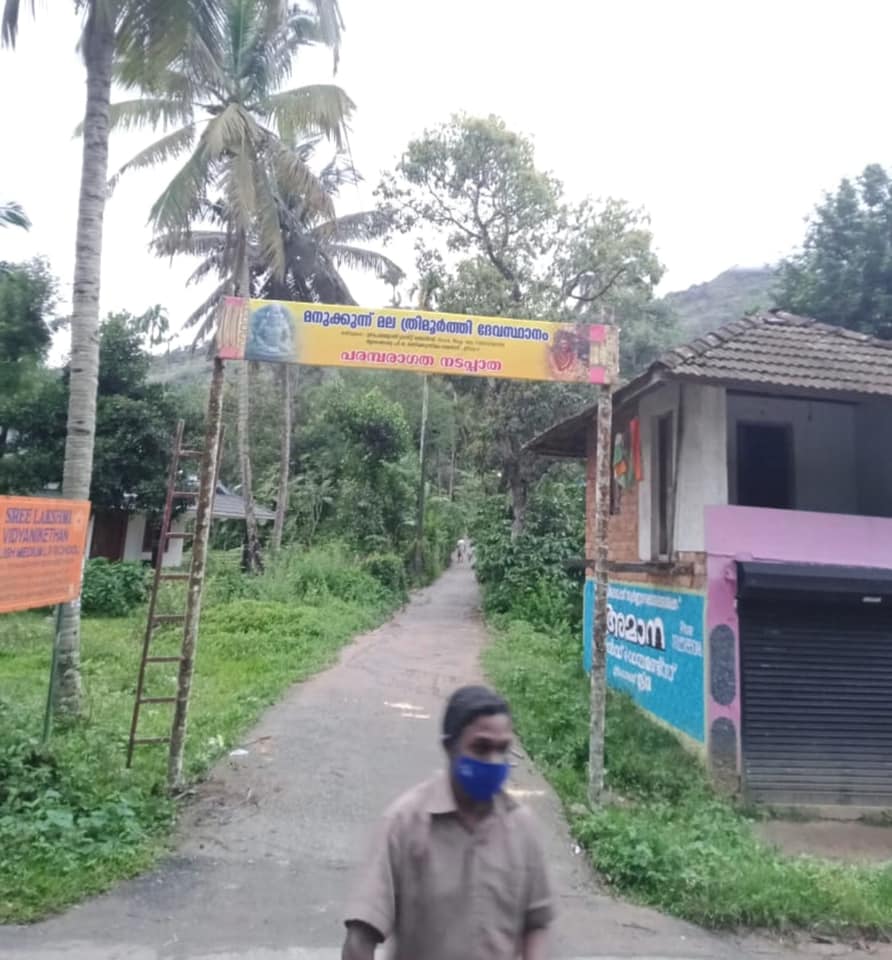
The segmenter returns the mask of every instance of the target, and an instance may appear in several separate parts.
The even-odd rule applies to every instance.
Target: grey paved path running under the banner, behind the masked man
[[[372,823],[442,763],[444,699],[479,678],[478,602],[462,568],[417,594],[264,716],[245,738],[247,754],[221,763],[203,785],[174,856],[63,916],[0,929],[0,957],[336,960],[345,890]],[[528,760],[511,782],[547,844],[559,891],[556,958],[802,956],[770,941],[715,937],[606,896]]]

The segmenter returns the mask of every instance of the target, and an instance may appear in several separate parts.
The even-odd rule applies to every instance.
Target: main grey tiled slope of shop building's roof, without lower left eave
[[[735,320],[670,350],[654,366],[729,386],[892,396],[892,343],[790,313]]]

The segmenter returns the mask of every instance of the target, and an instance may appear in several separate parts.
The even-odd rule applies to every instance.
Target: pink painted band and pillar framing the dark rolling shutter
[[[740,623],[737,617],[738,560],[837,564],[892,569],[892,519],[855,517],[756,507],[706,508],[706,728],[707,742],[716,720],[737,732],[740,772]],[[735,638],[736,694],[727,705],[710,689],[709,647],[722,625]]]

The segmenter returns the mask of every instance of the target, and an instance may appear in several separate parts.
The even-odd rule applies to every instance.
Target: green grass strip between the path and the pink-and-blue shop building
[[[610,802],[586,802],[588,680],[568,633],[492,621],[484,654],[525,747],[549,778],[599,873],[634,899],[708,927],[892,932],[892,866],[786,857],[742,808],[717,796],[699,760],[630,699],[611,693]]]

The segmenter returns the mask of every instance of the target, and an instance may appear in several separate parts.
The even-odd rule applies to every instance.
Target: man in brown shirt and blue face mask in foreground
[[[387,811],[346,913],[343,960],[544,960],[553,917],[528,812],[504,793],[508,704],[462,687],[443,718],[446,769]]]

